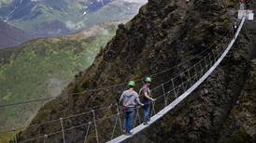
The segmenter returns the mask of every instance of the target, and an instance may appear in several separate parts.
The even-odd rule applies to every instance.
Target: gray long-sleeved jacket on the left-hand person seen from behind
[[[120,97],[120,103],[124,107],[135,107],[136,103],[141,104],[138,94],[131,89],[125,90]]]

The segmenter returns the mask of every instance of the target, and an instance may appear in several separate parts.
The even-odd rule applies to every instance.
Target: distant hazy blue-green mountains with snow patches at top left
[[[12,0],[0,7],[0,17],[23,31],[50,36],[78,32],[101,22],[131,18],[143,3],[145,0],[60,0],[58,3]]]

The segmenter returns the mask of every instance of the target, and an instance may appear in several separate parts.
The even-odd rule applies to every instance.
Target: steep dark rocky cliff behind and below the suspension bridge
[[[164,71],[192,58],[209,45],[214,47],[235,21],[236,4],[235,0],[192,0],[188,3],[149,0],[133,20],[119,26],[116,36],[98,54],[92,66],[76,75],[60,97],[42,107],[32,123],[92,110],[94,106],[109,105],[120,96],[121,86],[68,95]],[[241,91],[249,79],[248,51],[254,47],[250,45],[253,43],[252,35],[252,31],[243,30],[232,51],[204,84],[176,110],[130,141],[221,142],[224,141],[221,138],[228,139],[227,136],[233,131],[233,124],[228,122],[234,119],[231,110],[234,110],[237,98],[243,96]],[[192,62],[188,62],[179,69],[160,74],[153,78],[153,83],[161,84],[191,65]],[[107,116],[108,113],[99,114]],[[85,121],[90,121],[89,117],[69,120],[64,126]],[[105,136],[109,134],[107,125],[112,124],[98,125],[99,130],[105,127],[99,133],[102,141],[106,141]],[[58,123],[27,128],[20,133],[19,139],[48,134],[59,126]],[[225,134],[220,134],[221,131]],[[66,138],[68,141],[83,142],[84,132],[82,129],[68,132]],[[252,137],[252,134],[247,135]],[[61,140],[62,136],[56,135],[48,141]]]

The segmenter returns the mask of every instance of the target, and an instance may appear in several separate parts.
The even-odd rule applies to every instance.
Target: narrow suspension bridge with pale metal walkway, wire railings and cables
[[[15,143],[45,143],[56,142],[56,140],[58,140],[57,142],[60,142],[61,140],[64,143],[72,141],[116,143],[123,142],[131,137],[134,137],[136,134],[148,128],[151,124],[156,123],[158,120],[163,118],[166,113],[178,106],[178,104],[186,97],[189,97],[200,84],[206,81],[206,78],[220,65],[220,62],[226,57],[226,55],[235,44],[235,40],[241,32],[245,21],[246,18],[243,17],[235,34],[231,33],[230,31],[227,32],[225,38],[220,41],[219,45],[216,45],[214,47],[208,46],[203,52],[198,54],[200,56],[204,56],[204,58],[200,58],[194,64],[192,64],[190,68],[179,72],[172,78],[167,79],[167,81],[155,86],[151,90],[151,92],[153,93],[152,95],[154,95],[154,98],[156,100],[150,102],[151,112],[149,124],[144,125],[142,123],[142,110],[140,107],[136,107],[134,128],[132,130],[133,135],[131,136],[123,135],[122,118],[124,115],[124,111],[121,110],[121,107],[117,103],[110,104],[107,107],[94,108],[94,110],[90,110],[87,112],[81,112],[71,116],[50,120],[44,123],[35,123],[30,124],[26,127],[13,128],[11,130],[3,131],[0,134],[13,134],[13,141]],[[180,67],[188,61],[194,60],[198,57],[198,55],[185,62],[182,62],[178,66],[152,74],[151,76],[163,74],[166,71],[170,71],[172,69]],[[123,84],[116,84],[108,86],[107,88],[118,87],[121,85]],[[92,91],[96,90],[103,89],[92,89]],[[72,95],[76,94],[83,94],[83,92],[74,93]],[[15,106],[49,99],[52,98],[43,98],[23,101],[14,104],[1,105],[0,108],[6,108],[8,106]],[[74,120],[78,122],[72,122]],[[102,126],[102,124],[106,124],[106,126]],[[17,136],[17,132],[23,129],[33,131],[35,130],[35,128],[43,128],[44,126],[52,126],[52,130],[50,130],[50,132],[44,131],[43,133],[28,135],[29,137],[27,138],[19,138]],[[79,136],[79,140],[72,140],[72,138],[69,137],[71,135]]]

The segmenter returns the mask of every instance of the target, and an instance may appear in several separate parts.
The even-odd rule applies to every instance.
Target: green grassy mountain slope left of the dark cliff
[[[116,26],[107,26],[98,32],[91,30],[19,45],[19,55],[0,66],[0,104],[57,96],[78,71],[91,65],[115,30]],[[0,130],[29,123],[43,103],[0,109]]]

